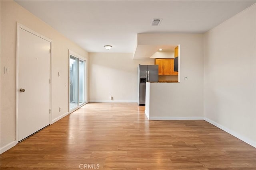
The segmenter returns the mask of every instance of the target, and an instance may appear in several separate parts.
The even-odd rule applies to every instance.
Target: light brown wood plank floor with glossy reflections
[[[87,104],[1,154],[1,170],[256,169],[256,149],[210,123],[148,121],[144,109]]]

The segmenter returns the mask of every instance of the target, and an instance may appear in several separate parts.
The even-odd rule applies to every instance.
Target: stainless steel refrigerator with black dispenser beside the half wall
[[[138,105],[145,105],[146,82],[158,82],[158,65],[138,66]]]

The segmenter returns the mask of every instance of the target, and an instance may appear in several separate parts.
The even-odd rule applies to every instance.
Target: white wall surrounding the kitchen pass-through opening
[[[203,116],[203,35],[178,33],[138,34],[138,44],[180,44],[180,83],[152,83],[150,91],[160,108],[154,117]],[[188,80],[184,80],[187,76]],[[156,87],[155,87],[156,86]],[[153,90],[154,91],[154,90]],[[150,99],[153,101],[154,99]],[[161,101],[161,102],[159,102]]]

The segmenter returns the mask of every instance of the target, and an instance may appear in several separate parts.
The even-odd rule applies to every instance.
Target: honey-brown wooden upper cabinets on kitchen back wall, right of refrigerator
[[[155,64],[158,65],[158,75],[178,75],[174,71],[174,59],[155,59]]]

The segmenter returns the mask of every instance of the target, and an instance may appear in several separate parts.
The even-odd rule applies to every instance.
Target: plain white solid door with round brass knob
[[[50,42],[18,29],[18,141],[21,141],[50,124]]]

